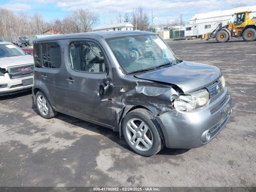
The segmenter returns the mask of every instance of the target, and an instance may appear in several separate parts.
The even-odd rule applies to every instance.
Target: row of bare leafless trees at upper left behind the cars
[[[62,20],[54,19],[49,23],[45,22],[39,13],[30,15],[27,12],[19,12],[14,14],[10,10],[0,8],[0,36],[30,36],[42,34],[49,29],[62,34],[89,32],[97,21],[98,18],[93,13],[84,10],[77,10]]]

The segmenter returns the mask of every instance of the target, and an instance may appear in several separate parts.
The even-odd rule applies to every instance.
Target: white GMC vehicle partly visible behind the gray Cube
[[[9,42],[0,42],[0,96],[30,90],[34,59]]]

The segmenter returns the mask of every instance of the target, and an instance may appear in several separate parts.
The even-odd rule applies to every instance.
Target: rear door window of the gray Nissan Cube
[[[43,43],[42,59],[44,68],[60,68],[61,54],[59,44],[56,42]]]

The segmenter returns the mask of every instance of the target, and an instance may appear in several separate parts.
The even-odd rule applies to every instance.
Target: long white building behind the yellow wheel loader
[[[256,6],[196,14],[190,19],[189,24],[185,25],[184,36],[202,36],[207,32],[212,32],[219,23],[222,22],[222,25],[226,25],[231,21],[234,13],[247,10],[252,11],[251,18],[256,17]]]

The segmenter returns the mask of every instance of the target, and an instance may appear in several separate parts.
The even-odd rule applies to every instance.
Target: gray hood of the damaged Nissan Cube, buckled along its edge
[[[204,88],[221,76],[219,68],[206,64],[183,61],[174,66],[135,75],[136,78],[175,84],[184,93]]]

